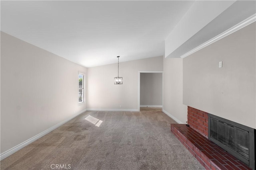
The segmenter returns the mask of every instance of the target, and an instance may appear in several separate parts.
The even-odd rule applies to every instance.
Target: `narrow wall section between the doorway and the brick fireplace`
[[[178,123],[186,123],[187,106],[183,102],[183,59],[164,59],[163,111]]]

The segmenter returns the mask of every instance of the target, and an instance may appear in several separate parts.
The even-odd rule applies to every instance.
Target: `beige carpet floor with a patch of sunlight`
[[[1,170],[204,169],[158,109],[86,111],[2,160]]]

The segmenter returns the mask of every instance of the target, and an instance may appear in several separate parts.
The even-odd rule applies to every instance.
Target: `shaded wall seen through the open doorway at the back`
[[[140,73],[140,105],[162,106],[162,73]]]

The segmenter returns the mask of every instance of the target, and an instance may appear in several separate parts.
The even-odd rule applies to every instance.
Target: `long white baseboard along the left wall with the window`
[[[71,119],[73,119],[74,117],[76,117],[76,116],[78,116],[78,115],[84,113],[86,110],[87,110],[87,109],[84,109],[84,110],[82,110],[82,111],[79,111],[78,113],[76,113],[76,114],[73,115],[72,117],[70,117],[70,118],[68,118],[68,119],[66,119],[66,120],[64,120],[64,121],[62,121],[62,122],[60,122],[60,123],[58,123],[57,125],[54,125],[53,127],[50,127],[49,129],[47,129],[47,130],[45,130],[45,131],[39,133],[38,135],[36,135],[36,136],[34,136],[34,137],[32,137],[32,138],[30,138],[30,139],[28,139],[28,140],[26,140],[26,141],[20,143],[19,145],[15,146],[15,147],[13,147],[13,148],[11,148],[11,149],[5,151],[5,152],[3,152],[2,154],[0,154],[0,160],[3,160],[4,158],[7,158],[7,157],[10,156],[11,154],[13,154],[13,153],[17,152],[18,150],[20,150],[20,149],[26,147],[28,144],[30,144],[30,143],[36,141],[37,139],[43,137],[44,135],[50,133],[50,132],[53,131],[54,129],[57,129],[57,128],[60,127],[61,125],[64,125],[65,123],[67,123],[68,121],[70,121]]]

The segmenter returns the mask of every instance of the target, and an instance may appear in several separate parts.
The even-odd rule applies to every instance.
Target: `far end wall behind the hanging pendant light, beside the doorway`
[[[138,110],[138,71],[163,70],[162,56],[123,63],[121,56],[119,61],[120,85],[114,85],[117,63],[88,68],[88,109]]]

